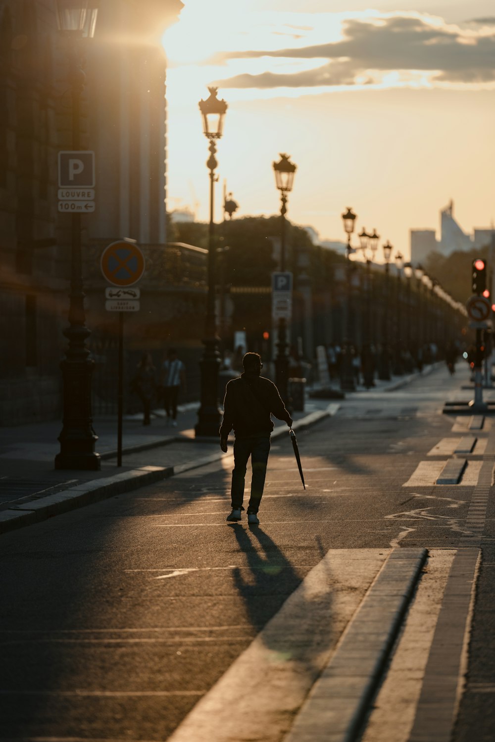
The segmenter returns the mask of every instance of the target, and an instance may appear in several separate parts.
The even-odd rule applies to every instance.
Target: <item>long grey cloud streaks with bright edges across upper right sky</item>
[[[487,21],[483,19],[485,25]],[[466,30],[416,14],[347,19],[342,30],[343,38],[335,42],[223,53],[223,63],[245,59],[246,72],[215,84],[221,88],[362,85],[363,80],[379,81],[392,72],[404,78],[422,73],[430,85],[495,82],[495,31]],[[266,61],[266,71],[249,72],[249,60],[255,59],[258,67],[260,60]],[[270,69],[273,62],[269,59],[278,60],[277,71]],[[309,70],[294,70],[298,60],[306,66],[310,60],[317,64]],[[215,62],[220,62],[220,55]],[[286,72],[280,71],[283,64],[290,65]]]

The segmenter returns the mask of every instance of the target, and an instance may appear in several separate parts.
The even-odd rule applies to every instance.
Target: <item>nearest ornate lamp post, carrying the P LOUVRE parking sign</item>
[[[74,151],[81,148],[80,109],[86,79],[79,46],[82,39],[93,38],[97,14],[98,4],[94,0],[57,0],[57,24],[68,46],[72,98],[71,144]],[[69,344],[60,364],[63,379],[63,422],[55,468],[96,470],[100,468],[101,462],[99,453],[94,450],[98,436],[93,429],[91,413],[91,375],[94,361],[89,358],[90,352],[86,347],[91,332],[85,324],[81,215],[71,214],[71,222],[69,326],[64,330]]]

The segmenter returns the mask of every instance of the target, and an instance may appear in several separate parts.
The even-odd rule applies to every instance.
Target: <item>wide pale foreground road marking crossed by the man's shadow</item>
[[[280,741],[388,553],[328,551],[168,742]]]

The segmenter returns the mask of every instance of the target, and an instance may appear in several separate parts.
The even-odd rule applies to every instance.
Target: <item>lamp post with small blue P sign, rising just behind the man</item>
[[[285,271],[285,215],[287,213],[287,194],[292,191],[294,184],[294,174],[297,166],[289,160],[289,155],[281,154],[279,162],[273,163],[275,172],[275,185],[281,191],[281,272]],[[278,320],[278,341],[277,341],[277,358],[275,358],[275,381],[281,398],[284,402],[288,401],[288,384],[289,381],[289,359],[287,358],[287,326],[285,318]]]

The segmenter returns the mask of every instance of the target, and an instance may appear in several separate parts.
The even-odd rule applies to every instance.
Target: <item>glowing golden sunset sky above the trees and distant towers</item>
[[[439,238],[450,199],[466,232],[495,220],[493,0],[183,2],[163,36],[169,210],[209,218],[198,102],[216,85],[217,221],[224,182],[236,216],[278,213],[281,153],[297,165],[287,217],[322,240],[344,240],[347,207],[405,257],[410,229]]]

